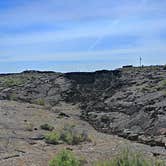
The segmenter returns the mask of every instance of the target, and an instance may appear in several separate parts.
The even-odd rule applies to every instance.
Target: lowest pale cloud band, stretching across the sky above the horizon
[[[8,52],[7,59],[0,59],[0,62],[19,62],[19,61],[96,61],[106,60],[111,61],[114,59],[135,59],[141,56],[160,56],[166,54],[165,44],[150,43],[144,46],[129,47],[124,49],[112,49],[105,51],[81,51],[81,52],[57,52],[50,53],[47,56],[45,54],[28,54]],[[150,58],[149,58],[150,61]]]

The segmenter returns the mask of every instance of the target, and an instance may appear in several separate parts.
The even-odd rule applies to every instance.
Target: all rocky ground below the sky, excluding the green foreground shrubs
[[[67,116],[59,119],[60,112]],[[166,158],[166,68],[1,74],[0,114],[2,166],[47,165],[67,145],[45,144],[45,131],[39,126],[49,123],[59,128],[71,121],[95,139],[71,147],[86,158],[87,165],[92,158],[110,158],[126,144]]]

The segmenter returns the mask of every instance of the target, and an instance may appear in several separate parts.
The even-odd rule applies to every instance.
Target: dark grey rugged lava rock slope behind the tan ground
[[[164,66],[1,75],[0,99],[51,106],[60,101],[79,104],[81,118],[99,131],[152,146],[166,145]]]

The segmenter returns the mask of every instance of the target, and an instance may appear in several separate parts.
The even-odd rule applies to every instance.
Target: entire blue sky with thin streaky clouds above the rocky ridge
[[[165,0],[1,0],[0,72],[166,64]]]

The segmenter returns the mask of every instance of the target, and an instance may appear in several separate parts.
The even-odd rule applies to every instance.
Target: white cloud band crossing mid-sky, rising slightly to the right
[[[161,20],[137,20],[132,21],[114,21],[98,22],[97,26],[94,24],[81,24],[79,27],[71,29],[64,29],[61,31],[46,31],[33,32],[14,35],[5,35],[0,38],[0,46],[10,45],[29,45],[40,44],[47,42],[62,42],[67,40],[79,38],[102,38],[103,36],[116,35],[134,35],[134,36],[148,36],[158,34],[161,30],[166,28],[166,21]]]

